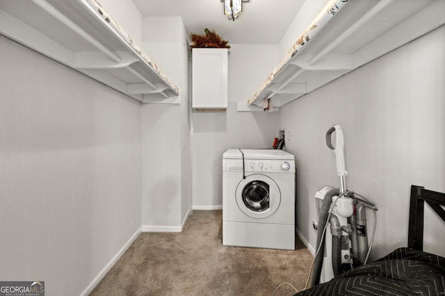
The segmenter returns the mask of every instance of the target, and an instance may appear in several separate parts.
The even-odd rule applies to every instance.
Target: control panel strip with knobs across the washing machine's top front
[[[242,159],[225,159],[224,171],[243,171]],[[244,159],[246,172],[295,173],[293,160]]]

